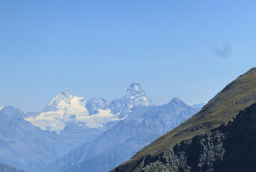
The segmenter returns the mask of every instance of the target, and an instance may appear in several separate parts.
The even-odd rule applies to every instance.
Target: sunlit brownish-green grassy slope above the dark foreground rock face
[[[218,93],[202,110],[167,134],[136,153],[116,171],[131,171],[146,154],[158,155],[167,147],[199,135],[229,121],[238,112],[256,102],[256,68],[239,76]]]

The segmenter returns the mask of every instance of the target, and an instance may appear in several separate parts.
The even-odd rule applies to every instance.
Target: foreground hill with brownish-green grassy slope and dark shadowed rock
[[[198,161],[202,161],[202,160],[199,160],[200,154],[196,150],[196,148],[200,148],[200,145],[198,146],[195,145],[195,150],[192,147],[194,146],[194,144],[199,144],[199,143],[201,144],[202,142],[207,142],[206,144],[210,144],[211,143],[210,140],[213,138],[214,138],[214,144],[218,144],[218,142],[221,142],[220,140],[221,138],[212,137],[209,135],[214,135],[215,130],[216,132],[218,132],[218,130],[222,130],[222,127],[220,128],[217,128],[217,127],[221,126],[223,123],[227,121],[232,120],[233,117],[236,116],[240,110],[243,110],[244,108],[249,107],[255,102],[256,102],[256,68],[252,68],[250,69],[250,71],[239,76],[235,81],[227,85],[220,93],[218,93],[213,99],[211,99],[209,103],[206,106],[204,106],[200,112],[192,116],[192,118],[188,119],[187,121],[182,123],[180,126],[171,130],[170,132],[163,135],[162,137],[158,138],[157,140],[155,140],[155,142],[151,143],[149,146],[143,148],[141,151],[135,154],[131,160],[123,163],[121,166],[115,168],[113,171],[144,171],[144,170],[161,171],[162,167],[158,167],[158,165],[159,166],[161,165],[160,163],[157,163],[157,161],[159,160],[159,157],[161,156],[163,161],[166,160],[165,163],[168,163],[170,166],[172,166],[173,168],[172,171],[179,171],[179,170],[197,171],[198,170],[197,168],[199,168],[198,166],[202,166],[200,168],[201,171],[205,171],[206,169],[211,169],[210,163],[198,162]],[[245,110],[244,113],[247,112],[248,116],[253,116],[254,110],[252,109],[254,108],[254,106],[255,105],[252,105],[252,107]],[[252,121],[252,123],[250,123],[251,117],[248,117],[248,118],[241,117],[241,118],[246,118],[247,119],[246,122],[248,122],[248,124],[250,125],[248,126],[248,128],[246,128],[246,122],[243,121],[244,123],[242,122],[241,125],[244,126],[245,128],[241,130],[239,129],[234,130],[234,131],[239,131],[240,133],[238,136],[242,136],[243,134],[246,133],[244,132],[244,130],[247,130],[248,134],[251,134],[253,136],[253,132],[255,131],[254,129],[252,129],[254,122]],[[230,125],[233,126],[233,129],[237,127],[236,124],[230,124]],[[207,134],[204,134],[205,132],[207,132]],[[226,135],[225,137],[227,138],[232,137],[232,132],[233,131],[230,131],[230,135]],[[203,139],[203,137],[205,138]],[[249,138],[253,138],[253,137],[249,137]],[[186,145],[184,145],[185,143]],[[182,146],[182,144],[184,146]],[[226,144],[228,143],[225,143],[223,146],[225,147]],[[231,144],[230,148],[233,148],[232,146],[234,145],[238,146],[239,144],[243,145],[245,143],[240,142],[240,143],[237,143],[237,145],[236,143],[234,143],[234,144]],[[254,139],[249,140],[246,144],[248,146],[255,145]],[[182,148],[189,147],[189,145],[192,145],[192,146],[191,148],[188,148],[187,154],[186,154],[186,151],[182,151]],[[204,144],[202,144],[202,146],[203,145]],[[175,148],[174,152],[171,151],[173,148]],[[250,151],[249,148],[246,148],[245,151]],[[235,150],[235,148],[233,150]],[[227,148],[225,151],[230,151],[230,150]],[[252,149],[252,151],[254,151],[254,149]],[[214,153],[204,152],[204,158],[213,159],[214,157],[209,158],[208,156],[211,156],[211,155],[215,156],[216,152],[218,152],[218,150],[214,150]],[[189,153],[191,154],[189,155]],[[254,164],[252,161],[255,159],[256,152],[254,151],[253,153],[254,153],[254,158],[252,156],[251,161],[246,163],[247,165]],[[190,161],[186,160],[185,162],[184,161],[181,162],[178,159],[175,159],[173,154],[175,155],[179,154],[178,156],[180,157],[185,156],[185,160],[191,155],[193,155],[193,157],[195,156],[195,158],[188,158]],[[232,153],[227,155],[232,157]],[[237,154],[233,154],[233,155],[237,155]],[[243,156],[244,154],[239,154],[239,155]],[[250,155],[252,155],[252,153],[250,153]],[[217,156],[216,159],[218,157],[220,158],[220,156],[218,155],[216,156]],[[167,162],[169,160],[172,162],[170,163]],[[205,161],[206,160],[204,160],[204,162]],[[236,159],[231,163],[234,164],[236,162],[239,162],[239,161]],[[243,162],[240,162],[239,164],[242,164]],[[228,163],[228,162],[223,161],[223,163]],[[174,166],[176,166],[178,169]],[[221,165],[218,164],[218,166],[221,166]],[[255,166],[253,165],[253,167]],[[228,169],[228,170],[231,170],[231,169]]]

